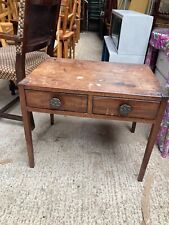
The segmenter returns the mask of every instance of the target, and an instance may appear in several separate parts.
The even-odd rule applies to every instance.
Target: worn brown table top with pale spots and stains
[[[160,84],[146,65],[51,58],[19,85],[25,89],[161,98]]]

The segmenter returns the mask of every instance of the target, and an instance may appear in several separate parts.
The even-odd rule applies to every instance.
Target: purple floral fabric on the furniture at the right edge
[[[150,47],[146,57],[146,64],[148,65],[150,65],[151,62],[153,48],[162,49],[169,60],[169,29],[159,28],[152,32]],[[169,86],[169,78],[166,85]],[[169,154],[169,101],[157,136],[157,145],[162,157],[167,157]]]

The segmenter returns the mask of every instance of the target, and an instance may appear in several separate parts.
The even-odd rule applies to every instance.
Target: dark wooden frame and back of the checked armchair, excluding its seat
[[[47,54],[53,56],[59,9],[60,0],[22,0],[17,35],[0,32],[0,39],[13,40],[16,44],[16,83],[25,77],[26,53],[47,47]],[[13,94],[14,88],[11,82]],[[0,109],[0,117],[22,120],[22,117],[5,113],[14,103]]]

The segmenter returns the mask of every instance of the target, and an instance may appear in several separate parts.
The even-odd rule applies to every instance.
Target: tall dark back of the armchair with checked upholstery
[[[17,46],[17,54],[48,47],[53,55],[60,0],[20,0],[17,35],[23,43]]]

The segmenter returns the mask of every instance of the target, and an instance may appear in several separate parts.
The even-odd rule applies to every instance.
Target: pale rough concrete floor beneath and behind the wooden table
[[[96,34],[82,33],[76,57],[100,60],[101,50]],[[3,105],[11,98],[6,82],[0,90]],[[126,122],[55,116],[51,127],[48,115],[34,116],[34,169],[22,124],[0,121],[0,225],[141,225],[141,208],[149,224],[169,224],[169,158],[154,147],[144,179],[153,179],[150,195],[136,179],[149,125],[131,134]]]

